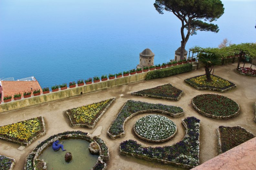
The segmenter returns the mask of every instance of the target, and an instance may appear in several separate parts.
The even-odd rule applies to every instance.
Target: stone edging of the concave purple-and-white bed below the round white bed
[[[187,135],[187,124],[184,122],[184,119],[182,119],[182,124],[186,128],[186,135]],[[200,129],[200,124],[199,124],[199,129]],[[200,138],[200,133],[199,133],[199,136],[198,136],[198,156],[199,156],[199,145],[200,145],[199,138]],[[124,155],[124,156],[132,156],[132,157],[136,157],[136,158],[140,158],[140,159],[145,159],[145,160],[148,160],[148,161],[156,161],[156,162],[160,162],[160,163],[164,163],[164,164],[175,165],[175,166],[186,168],[186,169],[193,168],[193,166],[190,166],[190,165],[185,165],[185,164],[176,163],[176,162],[172,162],[172,161],[166,161],[166,160],[163,160],[163,159],[149,158],[147,156],[141,156],[141,155],[137,155],[137,154],[133,154],[133,153],[123,152],[123,151],[121,151],[120,144],[119,144],[119,151],[120,151],[120,154]],[[199,158],[198,158],[198,165],[199,165]]]

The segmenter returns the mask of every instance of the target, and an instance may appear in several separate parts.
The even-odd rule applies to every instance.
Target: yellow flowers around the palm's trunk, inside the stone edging
[[[214,87],[226,87],[231,85],[231,83],[228,80],[222,79],[220,77],[211,75],[212,82],[207,82],[206,75],[198,76],[195,78],[189,79],[193,83],[204,85],[204,86],[214,86]]]

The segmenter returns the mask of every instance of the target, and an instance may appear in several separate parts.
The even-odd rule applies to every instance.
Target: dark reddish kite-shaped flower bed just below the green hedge
[[[183,91],[177,89],[171,84],[165,84],[162,86],[157,86],[151,89],[140,90],[131,93],[136,96],[152,97],[157,99],[168,99],[168,100],[179,100],[181,98]]]

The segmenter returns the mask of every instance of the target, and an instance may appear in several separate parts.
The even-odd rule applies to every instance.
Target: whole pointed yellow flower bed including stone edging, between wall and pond
[[[68,109],[66,115],[70,120],[70,125],[72,127],[88,127],[93,129],[114,100],[115,98],[107,99],[98,103]]]

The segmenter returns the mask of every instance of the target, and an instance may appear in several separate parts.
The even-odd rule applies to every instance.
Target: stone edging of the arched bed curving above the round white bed
[[[127,101],[124,103],[123,107],[126,105],[126,103],[127,103]],[[122,109],[123,109],[123,107],[122,107]],[[122,109],[121,109],[121,110],[122,110]],[[174,118],[178,118],[178,117],[184,115],[184,111],[181,112],[181,113],[176,113],[176,114],[171,113],[171,112],[167,112],[167,111],[164,111],[164,110],[160,110],[160,109],[147,109],[147,110],[137,111],[137,112],[131,114],[129,117],[127,117],[127,118],[124,120],[124,122],[123,122],[123,132],[122,132],[122,133],[120,133],[120,134],[118,134],[118,135],[112,135],[112,134],[109,132],[109,129],[110,129],[110,127],[112,126],[112,124],[111,124],[111,126],[108,128],[108,131],[107,131],[108,136],[110,136],[111,139],[116,139],[117,137],[124,137],[124,136],[125,136],[124,125],[125,125],[126,121],[129,120],[130,118],[132,118],[133,116],[136,116],[136,115],[141,114],[141,113],[147,113],[147,112],[163,113],[163,114],[172,116],[172,117],[174,117]],[[117,116],[118,116],[118,115],[117,115]]]

